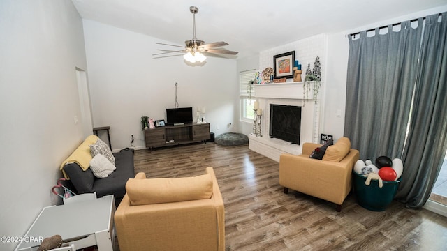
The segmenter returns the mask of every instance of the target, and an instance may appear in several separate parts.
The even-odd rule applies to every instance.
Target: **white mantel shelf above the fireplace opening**
[[[312,82],[311,82],[312,83]],[[313,98],[314,91],[309,91],[307,98],[304,98],[303,85],[305,82],[283,82],[272,84],[255,84],[255,98],[292,98],[299,100],[309,100]],[[313,84],[313,83],[312,83]]]

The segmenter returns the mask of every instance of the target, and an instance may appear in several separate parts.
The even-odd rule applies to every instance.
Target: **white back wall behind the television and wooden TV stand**
[[[179,107],[205,107],[215,135],[237,126],[234,59],[208,56],[204,66],[189,66],[182,56],[153,59],[162,47],[156,43],[168,41],[91,20],[84,20],[84,30],[93,123],[110,126],[114,151],[130,147],[132,134],[137,149],[144,148],[140,117],[166,119],[166,108],[175,107],[176,81]]]

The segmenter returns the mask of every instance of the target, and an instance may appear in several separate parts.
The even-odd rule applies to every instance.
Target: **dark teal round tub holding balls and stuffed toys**
[[[383,181],[383,187],[379,188],[379,181],[372,180],[365,185],[366,177],[353,172],[353,187],[357,203],[371,211],[385,211],[386,207],[393,201],[400,178],[397,181]]]

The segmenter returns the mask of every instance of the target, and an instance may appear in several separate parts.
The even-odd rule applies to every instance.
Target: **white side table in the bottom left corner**
[[[98,245],[99,251],[112,251],[115,244],[114,214],[113,195],[61,206],[47,206],[15,250],[35,251],[41,245],[38,237],[59,234],[64,243],[73,243],[76,249]]]

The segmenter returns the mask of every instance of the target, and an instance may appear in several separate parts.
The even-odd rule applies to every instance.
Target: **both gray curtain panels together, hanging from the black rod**
[[[349,39],[344,135],[362,160],[402,158],[396,198],[409,208],[430,197],[447,149],[447,13],[422,21]]]

